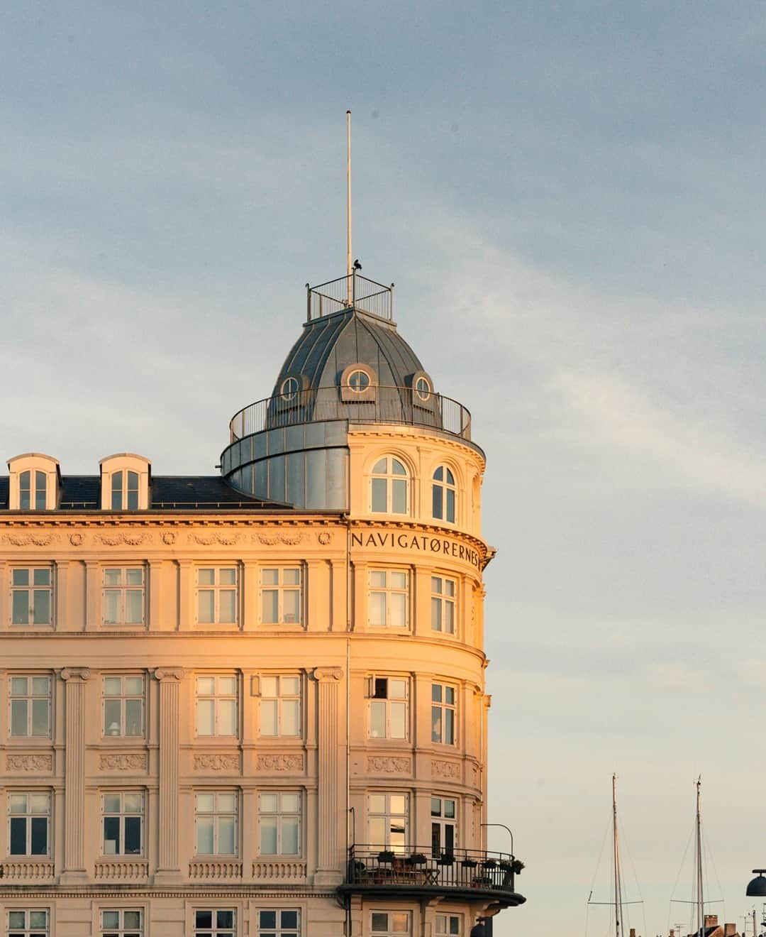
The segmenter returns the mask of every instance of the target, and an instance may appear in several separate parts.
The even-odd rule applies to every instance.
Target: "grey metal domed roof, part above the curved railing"
[[[381,387],[406,387],[423,367],[415,352],[390,320],[348,308],[303,325],[290,350],[273,395],[281,393],[288,377],[302,377],[305,390],[338,387],[351,364],[374,369]]]

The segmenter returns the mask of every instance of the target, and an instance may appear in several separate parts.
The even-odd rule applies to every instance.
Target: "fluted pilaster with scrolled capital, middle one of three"
[[[159,682],[159,857],[155,883],[181,880],[178,862],[178,719],[181,668],[158,667]]]

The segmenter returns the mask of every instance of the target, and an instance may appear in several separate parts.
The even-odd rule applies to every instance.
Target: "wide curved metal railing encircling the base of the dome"
[[[471,439],[470,411],[443,394],[429,393],[421,399],[411,387],[376,386],[373,399],[349,401],[342,400],[339,392],[337,387],[319,387],[257,400],[231,418],[230,441],[266,429],[325,420],[428,426]]]

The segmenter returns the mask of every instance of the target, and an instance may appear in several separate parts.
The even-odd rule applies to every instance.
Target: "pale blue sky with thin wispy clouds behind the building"
[[[490,812],[527,897],[495,937],[585,933],[614,771],[641,937],[688,924],[700,774],[741,924],[766,863],[763,3],[0,8],[0,456],[214,472],[304,284],[344,273],[350,108],[354,253],[488,456]]]

